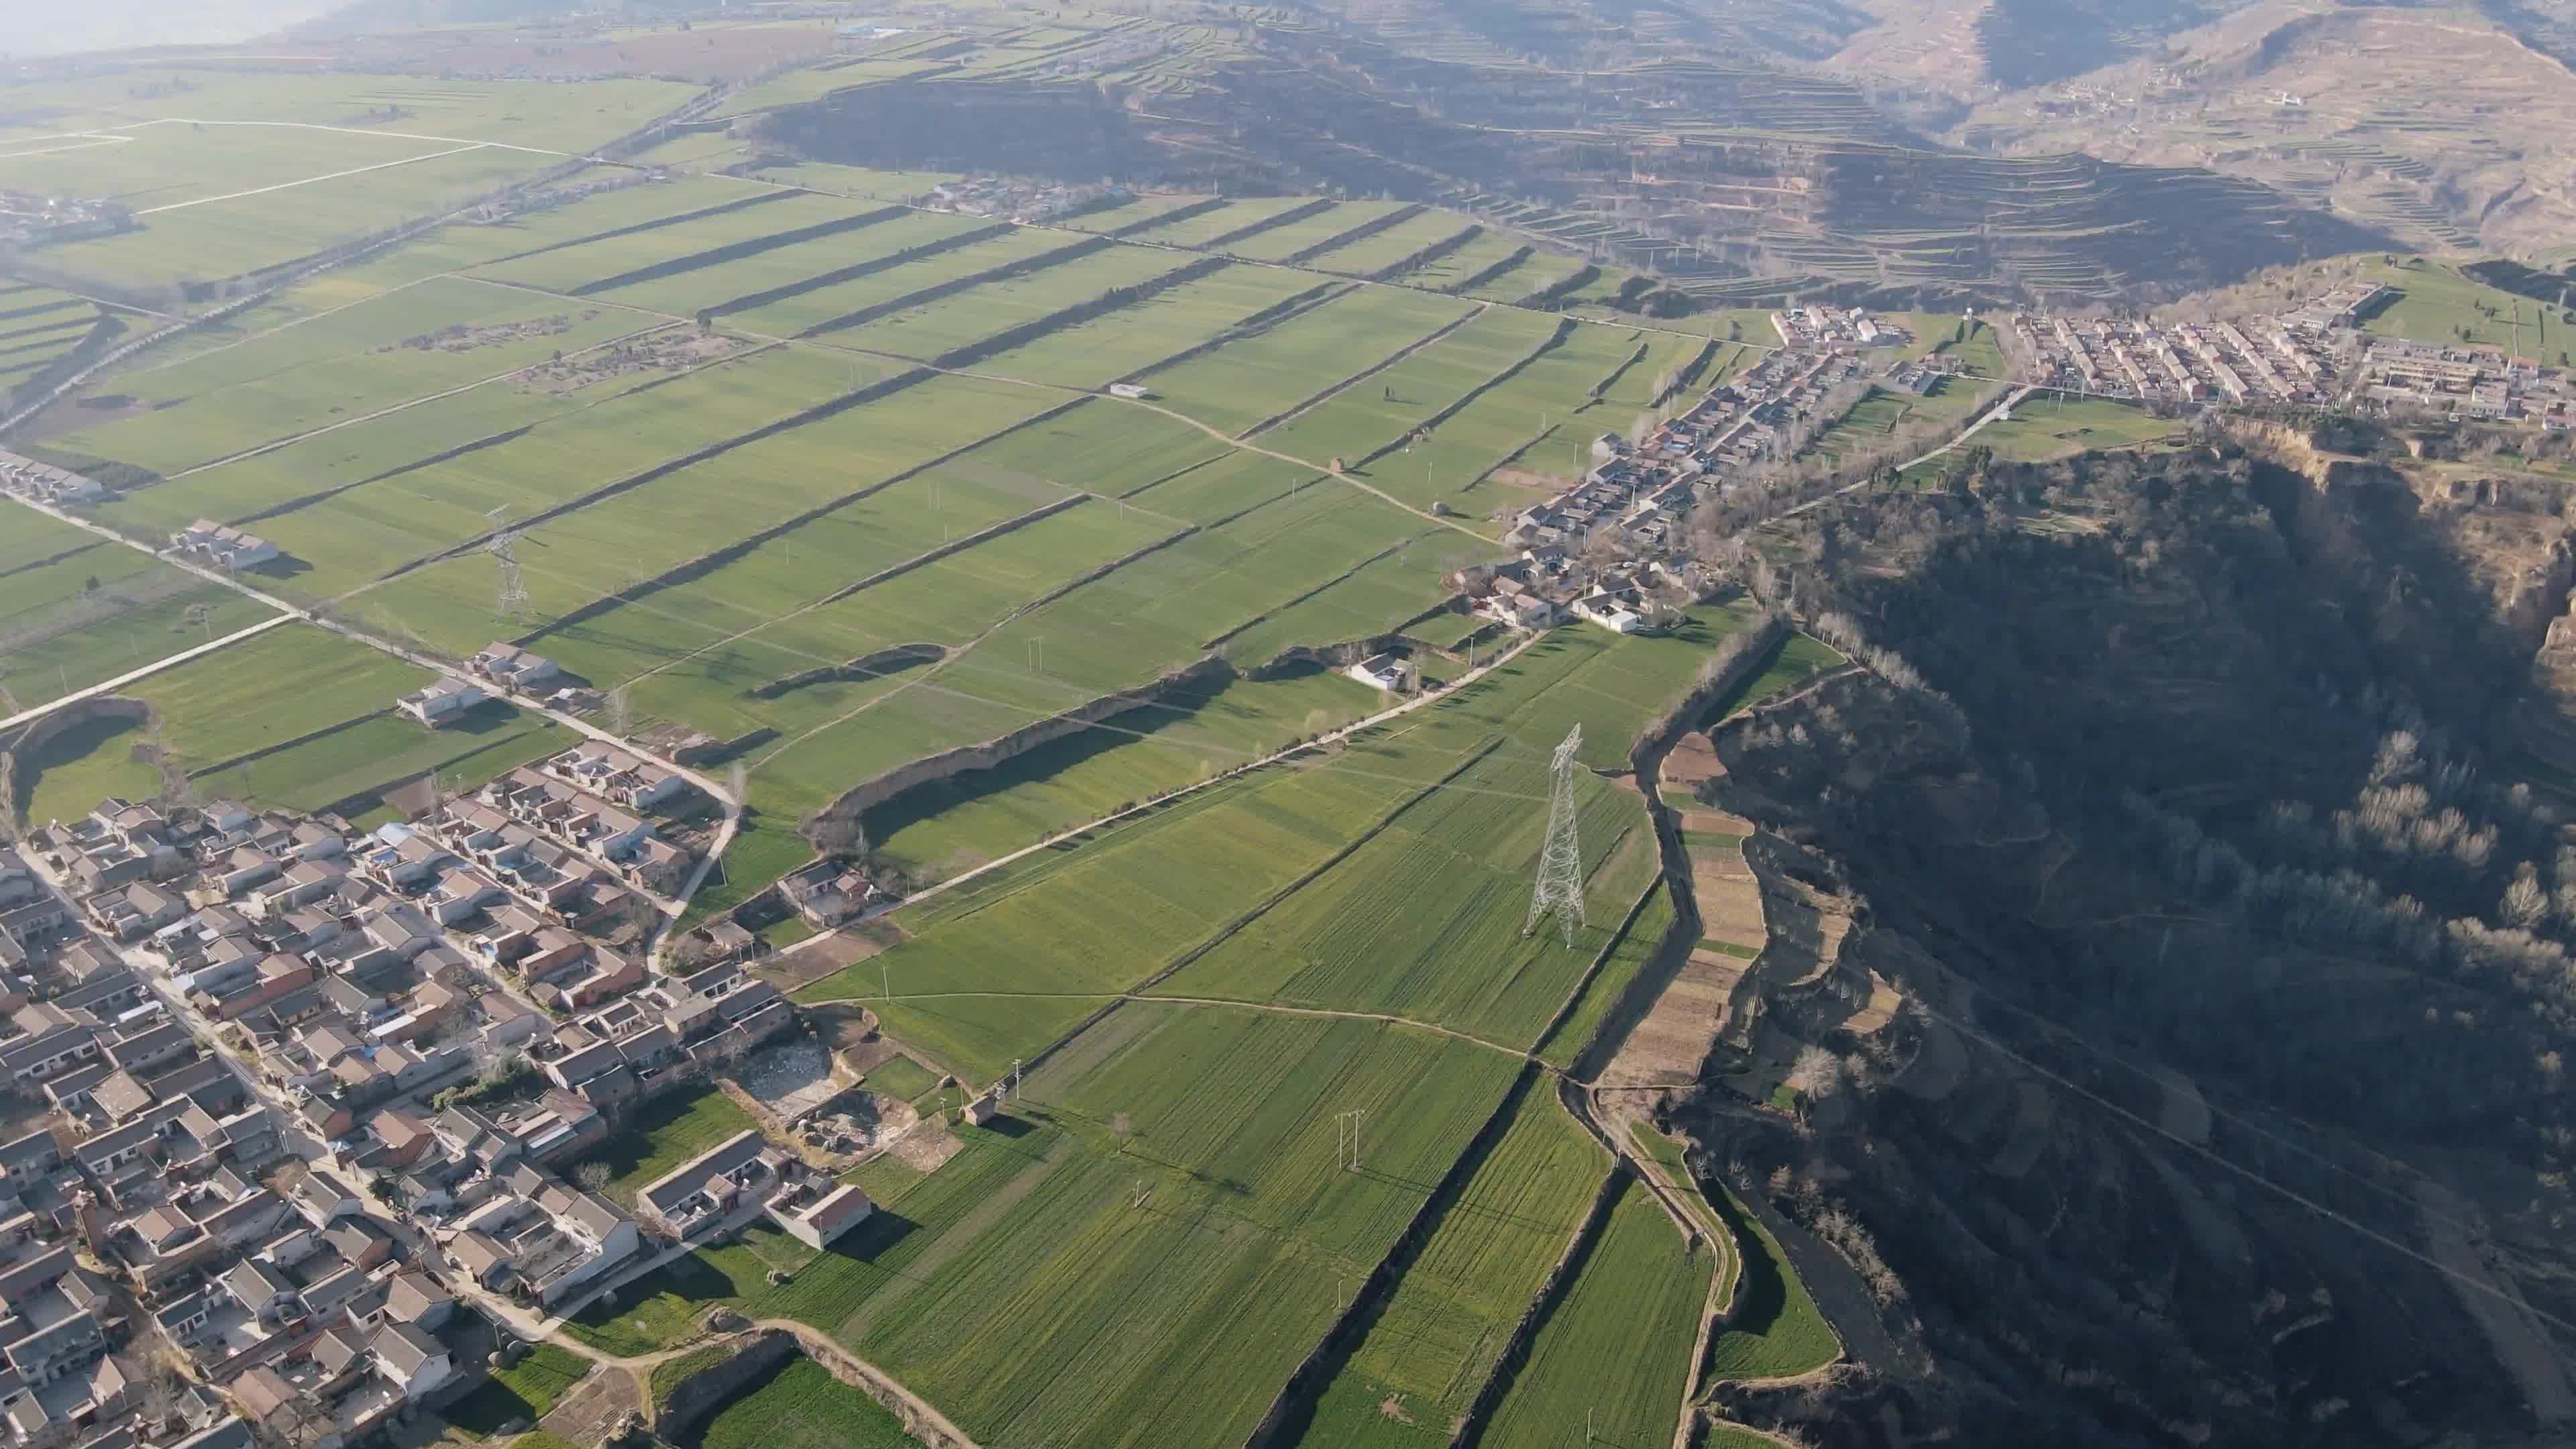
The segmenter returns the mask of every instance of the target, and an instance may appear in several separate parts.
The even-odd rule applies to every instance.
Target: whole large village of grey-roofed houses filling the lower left
[[[739,959],[649,975],[564,910],[585,879],[639,900],[564,804],[616,835],[608,794],[677,789],[580,745],[371,835],[106,799],[0,851],[0,1070],[44,1119],[0,1142],[0,1413],[111,1426],[147,1377],[121,1348],[157,1333],[204,1382],[201,1423],[113,1423],[98,1449],[335,1449],[474,1382],[461,1294],[554,1310],[639,1266],[657,1238],[562,1171],[636,1098],[796,1024]],[[809,1243],[873,1212],[757,1134],[742,1155],[760,1168],[693,1191]],[[155,1323],[121,1323],[106,1279]]]

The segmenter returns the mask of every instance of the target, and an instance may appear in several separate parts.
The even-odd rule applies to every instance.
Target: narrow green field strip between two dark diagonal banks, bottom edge
[[[1610,1155],[1546,1080],[1525,1083],[1510,1127],[1324,1387],[1298,1444],[1445,1446],[1607,1171]]]

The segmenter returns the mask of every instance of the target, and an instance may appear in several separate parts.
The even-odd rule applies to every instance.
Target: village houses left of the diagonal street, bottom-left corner
[[[193,890],[162,902],[139,887],[198,879],[252,838],[327,851],[278,820],[106,802],[28,843],[54,879],[95,887],[77,908],[0,856],[18,951],[0,1036],[13,1441],[250,1449],[283,1415],[291,1444],[343,1444],[461,1385],[433,1336],[456,1294],[397,1263],[392,1227],[337,1176],[291,1160],[273,1109],[139,969],[155,936],[134,910],[183,913]]]

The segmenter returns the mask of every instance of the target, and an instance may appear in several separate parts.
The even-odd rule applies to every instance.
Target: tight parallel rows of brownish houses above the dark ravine
[[[2334,335],[2287,317],[2239,327],[2014,312],[2012,338],[2030,382],[2141,402],[2326,402],[2342,374]]]

